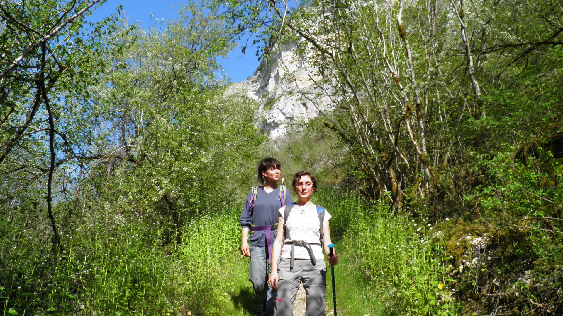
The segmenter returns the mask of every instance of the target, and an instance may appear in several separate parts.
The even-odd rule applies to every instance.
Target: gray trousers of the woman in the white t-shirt
[[[290,270],[291,259],[282,258],[278,265],[278,297],[276,316],[293,316],[293,302],[301,282],[307,295],[306,316],[325,316],[324,295],[327,290],[327,264],[324,259],[295,259]]]

